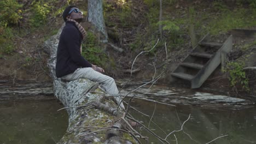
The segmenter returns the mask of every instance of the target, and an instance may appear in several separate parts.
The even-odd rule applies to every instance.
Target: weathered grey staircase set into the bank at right
[[[207,34],[171,75],[190,81],[191,88],[199,88],[220,63],[224,64],[226,54],[231,49],[232,35],[223,44],[219,44],[210,42],[210,36]]]

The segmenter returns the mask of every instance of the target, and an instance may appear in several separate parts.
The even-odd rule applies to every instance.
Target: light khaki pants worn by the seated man
[[[61,77],[61,79],[65,79],[67,81],[73,81],[80,78],[85,78],[85,79],[89,79],[91,81],[100,83],[100,86],[108,94],[119,93],[117,85],[115,84],[115,80],[112,77],[103,75],[92,68],[78,68],[77,70],[74,71],[74,73]],[[114,97],[114,98],[117,104],[121,102],[120,97]],[[123,103],[120,104],[120,107],[122,107],[123,109],[125,108]]]

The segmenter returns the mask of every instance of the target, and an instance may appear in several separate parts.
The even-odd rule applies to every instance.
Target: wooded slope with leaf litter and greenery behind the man
[[[87,1],[18,3],[23,6],[11,8],[20,11],[19,25],[0,25],[0,45],[3,45],[0,49],[0,79],[13,83],[19,80],[51,81],[46,68],[49,51],[44,49],[44,42],[62,26],[61,14],[67,5],[84,5],[80,9],[86,13]],[[27,4],[31,4],[31,7],[27,7]],[[82,25],[88,31],[89,39],[83,44],[85,58],[103,67],[107,75],[123,79],[130,76],[131,65],[138,53],[151,49],[161,38],[154,50],[137,58],[133,67],[136,73],[133,73],[133,76],[138,79],[149,79],[154,75],[154,63],[157,73],[164,67],[167,68],[161,82],[168,85],[176,85],[176,82],[171,81],[170,73],[193,49],[193,43],[197,43],[206,33],[210,32],[212,40],[222,43],[232,34],[234,28],[255,29],[256,23],[255,17],[252,16],[256,13],[255,4],[251,1],[163,1],[163,21],[159,21],[160,8],[159,1],[156,0],[103,1],[103,9],[109,42],[123,52],[98,43],[100,40],[97,39],[95,29],[90,23],[84,22]],[[33,15],[39,13],[37,10],[44,11],[40,13],[43,16]],[[34,21],[41,18],[45,21]],[[159,26],[163,28],[162,34]],[[235,38],[237,35],[241,36],[234,35],[233,49],[227,59],[227,65],[229,63],[231,67],[226,67],[225,72],[217,68],[202,88],[229,92],[235,97],[243,93],[255,95],[255,71],[245,71],[242,68],[254,66],[256,43],[254,38]],[[1,43],[1,40],[6,43]],[[167,65],[164,65],[165,42]],[[246,91],[248,89],[250,92]]]

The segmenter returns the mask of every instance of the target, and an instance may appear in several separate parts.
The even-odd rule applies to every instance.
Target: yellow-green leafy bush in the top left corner
[[[0,21],[5,21],[8,24],[18,24],[22,19],[22,4],[16,0],[1,0],[0,1]]]

